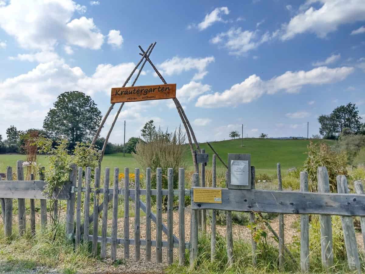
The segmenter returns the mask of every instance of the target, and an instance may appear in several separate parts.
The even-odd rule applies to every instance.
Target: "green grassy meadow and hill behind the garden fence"
[[[328,144],[333,144],[332,140],[314,140],[314,142],[324,141]],[[241,139],[211,142],[215,151],[227,163],[228,153],[248,153],[251,154],[251,164],[256,167],[257,173],[274,174],[276,171],[276,163],[281,163],[282,170],[287,170],[291,167],[301,167],[307,155],[308,140],[275,140],[275,139],[258,139],[247,138],[243,139],[243,146],[241,146]],[[209,153],[209,163],[207,168],[211,168],[213,152],[207,144],[200,144],[201,148]],[[193,169],[192,158],[189,147],[186,146],[185,161],[189,170]],[[0,172],[4,172],[8,165],[15,168],[17,160],[25,160],[25,155],[19,154],[2,154],[0,155]],[[47,167],[47,157],[44,155],[38,156],[38,163]],[[102,168],[118,167],[122,172],[124,167],[129,167],[131,170],[138,167],[131,154],[115,153],[105,155]],[[217,159],[217,168],[223,169],[223,164]]]

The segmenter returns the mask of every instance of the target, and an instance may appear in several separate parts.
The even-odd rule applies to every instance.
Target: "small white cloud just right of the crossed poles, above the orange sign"
[[[169,76],[178,75],[183,71],[195,69],[198,72],[193,76],[192,80],[201,80],[205,75],[207,75],[208,72],[205,69],[211,62],[214,62],[213,56],[205,58],[180,58],[175,56],[172,59],[168,59],[161,64],[158,64],[157,66],[161,70],[162,74]]]

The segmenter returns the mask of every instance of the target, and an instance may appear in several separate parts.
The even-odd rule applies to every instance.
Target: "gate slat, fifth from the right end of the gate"
[[[139,184],[139,168],[134,169],[134,241],[135,241],[135,250],[134,250],[134,258],[136,262],[141,259],[141,231],[140,231],[140,214],[141,214],[141,203],[139,201],[140,197],[140,184]]]

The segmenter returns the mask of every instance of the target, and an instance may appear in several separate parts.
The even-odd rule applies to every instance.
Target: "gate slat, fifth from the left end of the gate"
[[[114,168],[114,183],[113,183],[113,214],[112,214],[112,244],[111,244],[111,259],[116,260],[116,249],[118,247],[118,179],[119,168]],[[129,199],[129,197],[128,197]],[[129,244],[129,241],[128,241]]]

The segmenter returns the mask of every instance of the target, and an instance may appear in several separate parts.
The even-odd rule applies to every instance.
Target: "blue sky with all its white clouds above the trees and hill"
[[[365,119],[365,1],[0,0],[0,134],[41,128],[59,94],[79,90],[103,114],[144,49],[177,84],[200,142],[232,130],[318,134],[318,115],[356,103]],[[129,85],[134,80],[130,81]],[[136,85],[160,84],[147,63]],[[106,132],[118,107],[102,132]],[[153,119],[173,130],[172,100],[126,103],[111,136]]]

